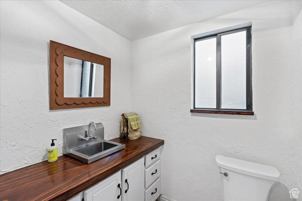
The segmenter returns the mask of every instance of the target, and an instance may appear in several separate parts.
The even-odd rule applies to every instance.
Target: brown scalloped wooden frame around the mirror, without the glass
[[[50,40],[50,105],[51,110],[110,105],[111,58],[87,52]],[[64,56],[104,66],[103,97],[64,97]]]

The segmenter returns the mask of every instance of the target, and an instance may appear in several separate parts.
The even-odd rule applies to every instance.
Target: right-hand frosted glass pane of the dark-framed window
[[[246,30],[220,39],[220,108],[246,109]]]

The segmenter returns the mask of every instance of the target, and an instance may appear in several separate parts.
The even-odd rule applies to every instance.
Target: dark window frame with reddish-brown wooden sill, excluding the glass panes
[[[246,30],[246,109],[226,109],[220,108],[221,104],[221,60],[220,60],[220,37],[230,33],[236,33]],[[216,108],[196,108],[195,107],[195,42],[216,38]],[[193,109],[191,112],[196,113],[216,113],[232,115],[254,115],[252,111],[252,27],[243,27],[239,29],[224,31],[208,36],[193,39]]]

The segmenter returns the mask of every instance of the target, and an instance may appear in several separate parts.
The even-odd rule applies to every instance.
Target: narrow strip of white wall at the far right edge
[[[293,2],[294,183],[302,190],[302,1]],[[300,191],[301,193],[301,191]],[[301,194],[300,194],[301,195]],[[302,200],[302,196],[299,196]]]

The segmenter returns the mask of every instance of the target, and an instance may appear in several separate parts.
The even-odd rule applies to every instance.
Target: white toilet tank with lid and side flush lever
[[[224,201],[267,201],[269,190],[279,180],[279,171],[268,165],[217,155]]]

